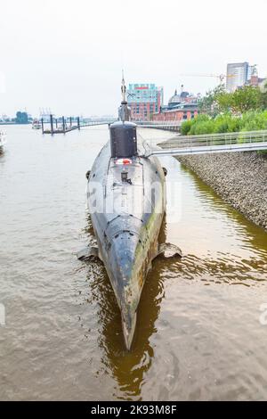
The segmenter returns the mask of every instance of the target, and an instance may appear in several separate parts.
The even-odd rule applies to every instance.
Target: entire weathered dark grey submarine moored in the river
[[[158,235],[166,214],[166,169],[157,157],[144,156],[146,144],[138,141],[137,126],[130,121],[122,80],[119,118],[109,125],[109,142],[88,170],[87,205],[97,247],[77,253],[103,262],[121,312],[125,347],[134,339],[138,304],[153,259],[171,250],[159,243]]]

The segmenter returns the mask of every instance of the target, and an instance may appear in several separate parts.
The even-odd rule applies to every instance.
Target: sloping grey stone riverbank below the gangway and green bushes
[[[233,152],[177,158],[224,201],[267,230],[267,155]]]

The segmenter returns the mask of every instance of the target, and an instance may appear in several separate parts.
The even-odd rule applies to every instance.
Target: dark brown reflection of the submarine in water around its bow
[[[90,216],[86,228],[88,239],[93,243],[93,227]],[[159,242],[165,242],[166,220],[162,223]],[[168,258],[158,258],[156,267],[150,270],[144,284],[142,297],[138,308],[136,322],[135,344],[131,352],[123,347],[121,333],[121,315],[117,307],[115,294],[110,286],[109,277],[99,270],[96,259],[89,261],[87,268],[87,282],[89,286],[88,300],[96,302],[98,317],[98,346],[101,348],[101,374],[103,369],[112,374],[117,386],[123,391],[123,398],[141,398],[143,375],[150,370],[154,349],[150,344],[150,337],[157,333],[155,326],[158,320],[161,301],[164,297],[164,278],[166,267],[173,265]],[[87,303],[88,303],[87,302]]]

